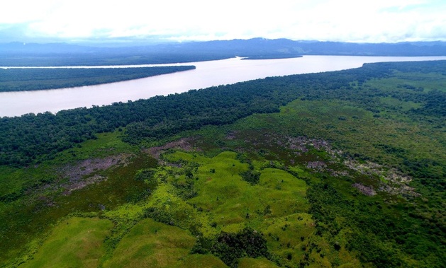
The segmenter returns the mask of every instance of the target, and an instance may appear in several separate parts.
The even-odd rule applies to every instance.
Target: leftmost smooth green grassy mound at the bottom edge
[[[112,227],[106,219],[74,217],[62,221],[33,259],[20,267],[97,267],[105,252],[104,238]]]

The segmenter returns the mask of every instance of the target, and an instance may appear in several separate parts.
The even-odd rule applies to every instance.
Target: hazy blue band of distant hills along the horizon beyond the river
[[[175,42],[128,47],[93,47],[66,43],[0,44],[1,66],[159,64],[230,57],[296,57],[299,55],[446,56],[446,42],[352,43],[253,38]]]

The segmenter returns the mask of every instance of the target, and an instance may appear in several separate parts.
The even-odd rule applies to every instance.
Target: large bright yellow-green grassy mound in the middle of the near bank
[[[194,173],[199,194],[189,199],[189,203],[208,211],[208,219],[222,231],[237,232],[247,225],[258,227],[264,219],[305,212],[308,209],[305,199],[306,182],[284,170],[265,168],[261,170],[259,184],[250,185],[239,175],[247,170],[248,165],[240,163],[236,157],[237,153],[228,151],[213,158],[184,152],[166,156],[171,161],[183,159],[199,164]],[[172,208],[177,199],[168,197],[167,192],[169,191],[161,195],[169,199]],[[152,198],[156,196],[154,194]],[[162,198],[158,198],[157,204],[162,203]],[[191,208],[183,206],[183,209],[188,211]]]

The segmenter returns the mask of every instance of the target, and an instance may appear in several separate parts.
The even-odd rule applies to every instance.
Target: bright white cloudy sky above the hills
[[[445,0],[13,0],[0,42],[446,41]]]

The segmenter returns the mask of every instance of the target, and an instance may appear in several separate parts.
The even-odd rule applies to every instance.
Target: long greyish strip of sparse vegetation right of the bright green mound
[[[231,133],[229,137],[237,135],[237,133]],[[254,139],[245,139],[245,142],[249,142],[257,148],[274,148],[279,146],[291,151],[291,160],[289,163],[294,165],[300,163],[318,173],[328,173],[335,177],[350,177],[355,180],[355,176],[359,173],[369,177],[372,185],[368,186],[362,183],[355,183],[352,187],[355,187],[366,195],[374,195],[377,192],[386,192],[393,195],[402,195],[403,197],[418,197],[420,194],[415,192],[413,187],[408,186],[412,178],[403,175],[394,168],[387,168],[378,163],[367,161],[365,163],[356,161],[353,158],[345,157],[341,150],[333,148],[328,141],[323,139],[310,139],[306,136],[284,136],[280,134],[263,134],[260,137]],[[311,149],[317,151],[325,151],[327,154],[324,159],[316,157],[307,157],[308,152]],[[294,157],[293,157],[294,155]],[[333,165],[335,164],[335,165]],[[339,168],[339,166],[344,168]],[[375,187],[375,188],[374,188]]]

